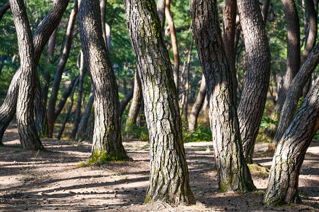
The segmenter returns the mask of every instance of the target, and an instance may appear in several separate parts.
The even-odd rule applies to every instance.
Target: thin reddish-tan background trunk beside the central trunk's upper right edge
[[[174,82],[176,85],[176,90],[178,93],[179,63],[180,63],[180,61],[179,61],[177,37],[176,37],[176,32],[175,32],[175,24],[174,24],[173,17],[170,14],[170,0],[166,0],[166,3],[165,3],[165,16],[166,16],[166,20],[167,20],[167,23],[169,26],[171,46],[173,47],[173,55],[174,55],[173,74],[174,74]]]

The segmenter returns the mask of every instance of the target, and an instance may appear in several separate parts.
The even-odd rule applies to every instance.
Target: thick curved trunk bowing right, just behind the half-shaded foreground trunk
[[[270,49],[258,0],[237,0],[246,51],[246,78],[238,106],[240,135],[247,163],[253,152],[267,99]]]

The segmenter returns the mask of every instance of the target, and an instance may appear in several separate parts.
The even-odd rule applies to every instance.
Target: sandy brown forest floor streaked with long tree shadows
[[[50,152],[20,149],[15,125],[0,147],[0,212],[319,212],[319,142],[313,141],[302,166],[299,185],[305,205],[266,208],[262,205],[267,170],[253,165],[258,191],[251,194],[218,191],[211,142],[185,143],[190,186],[201,203],[193,206],[144,205],[149,183],[149,144],[124,141],[132,162],[83,166],[90,156],[86,142],[42,140]],[[257,143],[254,162],[270,168],[267,143]],[[81,165],[82,164],[82,165]],[[253,169],[255,171],[253,171]]]

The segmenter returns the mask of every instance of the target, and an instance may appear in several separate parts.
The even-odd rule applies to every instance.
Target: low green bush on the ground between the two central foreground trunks
[[[196,130],[193,132],[184,132],[183,141],[187,142],[202,142],[202,141],[212,141],[210,127],[203,127],[198,125]]]

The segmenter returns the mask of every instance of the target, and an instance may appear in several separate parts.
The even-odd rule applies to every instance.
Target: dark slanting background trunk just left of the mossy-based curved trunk
[[[88,104],[86,105],[85,111],[82,115],[82,119],[78,127],[76,141],[84,141],[87,139],[86,129],[89,123],[89,118],[93,108],[93,103],[94,103],[94,92],[93,90],[91,90]]]

